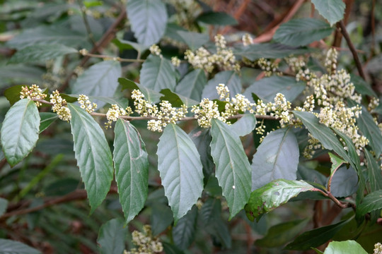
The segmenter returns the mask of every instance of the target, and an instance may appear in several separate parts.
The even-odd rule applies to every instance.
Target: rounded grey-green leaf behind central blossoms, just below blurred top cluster
[[[219,99],[219,95],[216,92],[216,86],[219,84],[224,84],[228,87],[231,98],[241,93],[242,86],[238,74],[234,71],[221,71],[217,73],[214,78],[208,80],[202,92],[202,98]]]

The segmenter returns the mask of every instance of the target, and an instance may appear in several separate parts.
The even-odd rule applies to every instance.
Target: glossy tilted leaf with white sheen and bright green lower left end
[[[274,180],[250,193],[245,212],[248,219],[253,221],[305,191],[314,191],[314,187],[304,181]]]

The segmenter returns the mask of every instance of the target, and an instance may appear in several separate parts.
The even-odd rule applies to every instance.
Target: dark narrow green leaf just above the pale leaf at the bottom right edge
[[[329,241],[337,231],[342,229],[350,220],[343,220],[336,224],[329,226],[322,226],[318,229],[313,229],[311,231],[306,231],[299,235],[292,243],[289,243],[284,249],[285,250],[308,250],[312,247],[317,247]]]

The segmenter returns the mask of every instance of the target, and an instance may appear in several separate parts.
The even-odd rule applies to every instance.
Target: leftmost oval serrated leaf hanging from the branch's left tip
[[[11,167],[35,147],[40,133],[40,115],[35,102],[21,99],[8,110],[1,126],[1,146]]]

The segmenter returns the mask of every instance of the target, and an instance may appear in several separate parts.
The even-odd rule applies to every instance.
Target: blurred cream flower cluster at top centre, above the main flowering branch
[[[240,65],[233,55],[232,49],[226,47],[226,39],[223,35],[215,36],[216,54],[211,54],[204,47],[200,47],[194,53],[190,49],[185,52],[185,59],[192,64],[194,68],[202,68],[212,73],[215,66],[226,71],[240,71]]]

